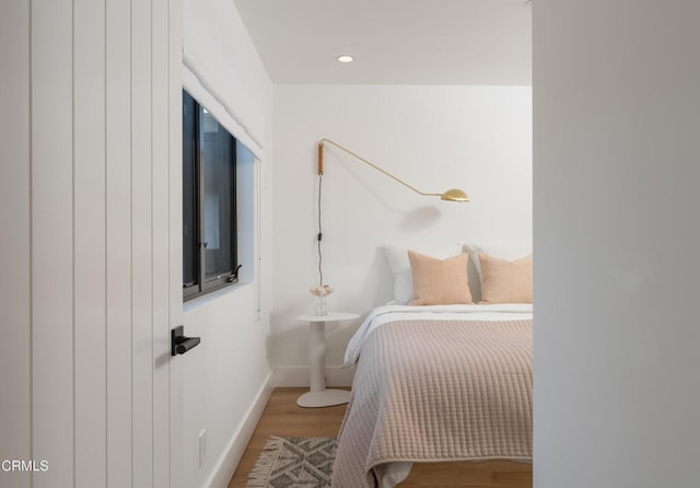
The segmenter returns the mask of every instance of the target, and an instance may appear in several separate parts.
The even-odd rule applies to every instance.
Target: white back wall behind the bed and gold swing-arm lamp
[[[423,191],[466,190],[470,204],[420,197],[326,149],[324,277],[329,307],[365,315],[392,297],[383,244],[529,243],[529,88],[277,85],[275,309],[271,360],[282,384],[307,384],[316,284],[317,142],[327,137]],[[328,326],[328,380],[358,324]]]

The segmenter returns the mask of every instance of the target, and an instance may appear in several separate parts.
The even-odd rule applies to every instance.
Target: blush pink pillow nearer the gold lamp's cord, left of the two
[[[413,279],[411,305],[450,305],[472,303],[467,282],[467,253],[438,259],[408,252]]]

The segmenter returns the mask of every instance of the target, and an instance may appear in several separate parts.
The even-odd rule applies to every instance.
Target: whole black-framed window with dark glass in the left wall
[[[235,283],[238,142],[183,91],[183,290],[185,300]]]

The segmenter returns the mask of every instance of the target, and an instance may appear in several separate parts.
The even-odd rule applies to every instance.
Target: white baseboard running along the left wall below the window
[[[226,445],[226,449],[217,462],[211,476],[203,486],[209,488],[229,487],[229,481],[231,481],[231,477],[235,473],[236,467],[243,457],[243,453],[245,452],[245,448],[248,445],[248,441],[253,437],[255,427],[258,425],[260,417],[262,417],[262,410],[265,410],[265,406],[272,394],[272,390],[275,387],[272,379],[273,373],[270,371],[265,379],[262,386],[260,386],[253,405],[250,405],[245,418],[241,422],[238,430],[236,430],[231,438],[229,445]]]

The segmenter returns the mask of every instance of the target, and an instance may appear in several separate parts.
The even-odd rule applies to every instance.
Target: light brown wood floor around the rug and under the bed
[[[276,388],[253,433],[229,488],[244,488],[268,437],[335,438],[346,413],[346,406],[301,408],[296,398],[305,388]],[[400,487],[469,487],[469,488],[532,488],[532,464],[510,461],[483,463],[422,463],[415,464]]]

